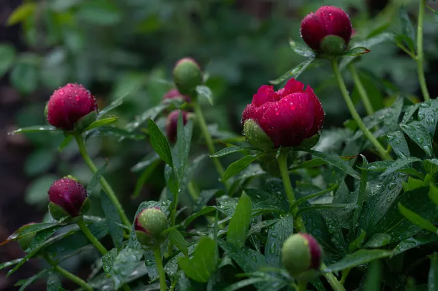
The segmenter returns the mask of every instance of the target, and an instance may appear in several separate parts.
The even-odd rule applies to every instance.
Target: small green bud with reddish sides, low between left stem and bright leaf
[[[134,222],[138,241],[148,247],[157,247],[166,240],[167,235],[162,232],[167,227],[166,214],[158,207],[142,210]]]

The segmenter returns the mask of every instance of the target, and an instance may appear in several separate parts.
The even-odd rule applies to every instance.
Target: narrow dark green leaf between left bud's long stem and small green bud
[[[107,219],[108,231],[110,232],[114,247],[118,248],[123,242],[123,223],[116,206],[111,202],[105,191],[101,191],[101,206]]]

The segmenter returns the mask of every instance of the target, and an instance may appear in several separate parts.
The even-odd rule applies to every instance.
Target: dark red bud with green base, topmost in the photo
[[[333,6],[322,6],[315,13],[308,14],[302,20],[300,29],[302,40],[310,48],[331,54],[346,50],[351,32],[348,14]]]

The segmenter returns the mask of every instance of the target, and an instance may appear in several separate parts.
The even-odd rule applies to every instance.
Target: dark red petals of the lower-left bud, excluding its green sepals
[[[56,180],[50,186],[48,193],[49,202],[62,208],[71,217],[81,214],[81,208],[88,197],[85,187],[73,178]]]

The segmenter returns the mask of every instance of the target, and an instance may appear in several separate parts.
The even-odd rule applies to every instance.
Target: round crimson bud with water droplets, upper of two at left
[[[47,121],[63,130],[73,130],[82,117],[97,112],[96,99],[79,84],[67,84],[55,90],[47,104]]]

